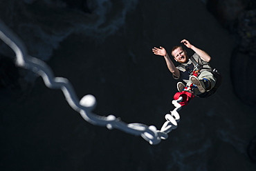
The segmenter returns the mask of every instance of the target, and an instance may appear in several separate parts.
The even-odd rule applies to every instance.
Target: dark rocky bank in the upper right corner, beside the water
[[[207,1],[208,10],[236,42],[232,52],[231,79],[234,92],[246,105],[255,106],[256,2],[249,0]]]

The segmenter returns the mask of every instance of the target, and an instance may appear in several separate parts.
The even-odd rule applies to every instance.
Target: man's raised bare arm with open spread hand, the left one
[[[165,62],[167,64],[167,68],[170,70],[170,72],[172,72],[172,74],[174,74],[175,77],[178,77],[178,78],[180,77],[179,70],[174,66],[174,63],[170,59],[169,54],[166,52],[165,48],[161,46],[160,48],[154,47],[152,51],[154,52],[154,54],[164,57]]]

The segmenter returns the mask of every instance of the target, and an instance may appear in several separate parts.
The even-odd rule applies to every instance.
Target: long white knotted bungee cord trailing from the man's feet
[[[123,132],[129,134],[140,135],[148,141],[150,144],[157,144],[161,142],[161,139],[167,139],[167,133],[171,132],[177,127],[177,122],[179,122],[179,113],[181,105],[179,102],[182,101],[182,97],[178,100],[172,101],[176,107],[171,114],[166,114],[165,123],[163,124],[161,130],[157,130],[154,125],[144,125],[142,123],[125,123],[113,115],[107,117],[101,117],[92,112],[96,105],[96,99],[93,95],[88,94],[79,101],[77,95],[73,90],[73,86],[69,83],[68,79],[63,77],[54,77],[51,68],[48,67],[44,61],[37,58],[30,57],[27,54],[24,43],[9,30],[6,25],[0,20],[0,39],[3,40],[12,50],[15,52],[17,60],[17,66],[21,68],[26,68],[37,74],[39,74],[44,80],[45,85],[48,88],[61,89],[66,97],[66,101],[73,108],[73,110],[79,112],[82,118],[93,125],[106,126],[109,130],[117,128]]]

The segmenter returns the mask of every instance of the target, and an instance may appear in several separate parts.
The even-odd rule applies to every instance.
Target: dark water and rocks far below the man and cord
[[[0,170],[256,170],[255,10],[253,0],[1,0],[1,20],[28,53],[78,97],[95,95],[99,115],[160,129],[176,80],[152,48],[181,39],[211,55],[223,84],[149,145],[84,121],[1,42]]]

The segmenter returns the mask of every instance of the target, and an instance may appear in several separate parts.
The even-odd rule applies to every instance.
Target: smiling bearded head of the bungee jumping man
[[[172,57],[179,63],[187,63],[189,59],[187,52],[182,46],[174,46],[174,48],[172,48]]]

